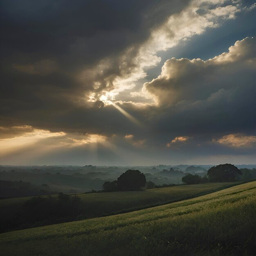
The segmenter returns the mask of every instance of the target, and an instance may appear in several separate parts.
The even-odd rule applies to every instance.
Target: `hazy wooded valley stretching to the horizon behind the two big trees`
[[[105,182],[113,182],[128,169],[139,170],[148,188],[184,184],[182,178],[193,175],[204,182],[210,165],[158,166],[0,166],[0,198],[15,198],[56,193],[100,191]],[[256,165],[237,165],[240,180],[256,178]],[[152,185],[154,184],[154,185]],[[189,181],[188,184],[191,184]]]

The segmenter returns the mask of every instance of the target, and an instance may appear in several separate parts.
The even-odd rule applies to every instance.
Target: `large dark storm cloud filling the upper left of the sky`
[[[111,57],[108,69],[96,74],[99,90],[109,86],[105,78],[120,74],[119,53],[133,45],[136,54],[150,29],[187,2],[1,1],[2,123],[51,128],[53,119],[85,105],[95,74],[87,72],[83,80],[79,72]],[[85,119],[92,111],[85,107]]]

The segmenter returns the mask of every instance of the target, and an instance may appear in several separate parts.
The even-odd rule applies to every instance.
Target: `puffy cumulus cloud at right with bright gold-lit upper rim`
[[[161,75],[145,83],[144,88],[157,97],[160,105],[182,105],[181,101],[206,99],[221,89],[252,88],[252,76],[246,74],[254,68],[255,38],[245,38],[229,52],[207,61],[171,58],[164,63]]]

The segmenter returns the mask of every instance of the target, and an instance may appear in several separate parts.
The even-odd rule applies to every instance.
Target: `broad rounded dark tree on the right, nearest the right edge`
[[[242,172],[234,164],[219,164],[211,167],[208,172],[211,182],[235,181]]]

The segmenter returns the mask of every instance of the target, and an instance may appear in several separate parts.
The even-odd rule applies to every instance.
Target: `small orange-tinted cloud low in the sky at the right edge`
[[[256,145],[256,136],[244,134],[229,134],[213,139],[213,142],[236,148],[251,148]]]

